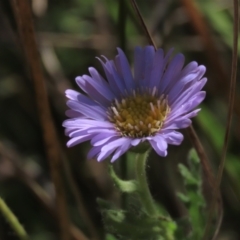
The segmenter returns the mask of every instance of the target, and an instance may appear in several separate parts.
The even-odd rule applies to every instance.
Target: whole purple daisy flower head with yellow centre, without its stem
[[[206,68],[196,62],[184,65],[184,56],[169,60],[162,49],[136,47],[134,74],[121,49],[114,60],[101,62],[107,81],[90,67],[88,75],[76,78],[87,94],[66,90],[69,98],[64,121],[71,147],[91,141],[88,158],[98,161],[112,155],[115,161],[131,147],[148,142],[160,156],[167,155],[168,144],[179,145],[183,135],[178,129],[191,124],[194,110],[205,98],[201,91],[207,79]]]

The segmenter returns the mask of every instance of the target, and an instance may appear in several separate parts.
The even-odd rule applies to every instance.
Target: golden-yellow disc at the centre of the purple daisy
[[[146,91],[147,92],[147,91]],[[156,96],[156,88],[151,93],[133,91],[133,95],[115,99],[108,109],[110,122],[122,136],[147,137],[158,132],[164,123],[170,107],[167,98]]]

